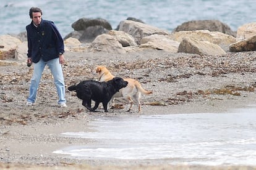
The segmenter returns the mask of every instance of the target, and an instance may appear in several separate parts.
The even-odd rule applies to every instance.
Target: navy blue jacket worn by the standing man
[[[33,24],[26,26],[28,38],[28,57],[33,63],[40,59],[45,62],[59,57],[59,52],[64,53],[64,43],[57,27],[53,22],[41,20],[38,27]]]

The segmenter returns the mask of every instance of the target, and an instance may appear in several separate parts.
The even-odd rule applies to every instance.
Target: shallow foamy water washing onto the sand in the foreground
[[[66,132],[98,142],[54,153],[85,159],[169,159],[169,163],[256,165],[256,106],[231,113],[99,117],[93,132]]]

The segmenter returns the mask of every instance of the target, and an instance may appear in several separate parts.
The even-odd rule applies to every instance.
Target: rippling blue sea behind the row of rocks
[[[53,20],[62,36],[74,31],[79,18],[103,18],[113,29],[127,17],[172,31],[190,20],[220,20],[233,31],[256,20],[255,0],[1,0],[0,35],[19,34],[30,23],[30,7],[40,7],[45,20]]]

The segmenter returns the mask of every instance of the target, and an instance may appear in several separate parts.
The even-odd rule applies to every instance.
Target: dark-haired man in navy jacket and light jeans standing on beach
[[[64,43],[53,22],[42,19],[42,11],[38,7],[29,10],[32,22],[26,26],[28,39],[28,66],[34,63],[33,76],[30,83],[27,105],[32,106],[36,100],[36,92],[41,75],[48,65],[54,78],[59,95],[59,107],[67,107],[65,99],[65,84],[61,64],[64,59]]]

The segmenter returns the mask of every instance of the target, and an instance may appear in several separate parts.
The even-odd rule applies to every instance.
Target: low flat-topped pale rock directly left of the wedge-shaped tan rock
[[[177,52],[179,42],[171,40],[169,36],[152,34],[141,39],[140,47]]]

